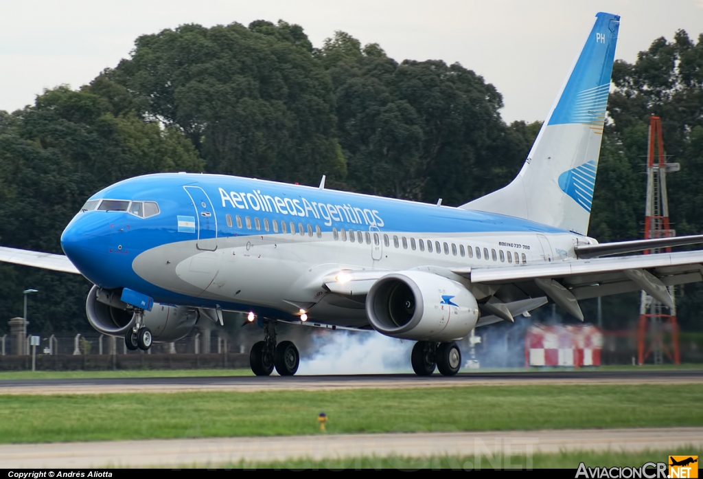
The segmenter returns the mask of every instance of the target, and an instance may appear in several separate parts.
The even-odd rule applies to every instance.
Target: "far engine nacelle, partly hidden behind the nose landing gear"
[[[93,286],[88,294],[86,315],[99,333],[124,336],[134,326],[135,314],[120,300],[118,292]],[[155,342],[168,343],[190,333],[198,318],[198,309],[154,303],[151,311],[144,312],[144,326],[151,330]]]

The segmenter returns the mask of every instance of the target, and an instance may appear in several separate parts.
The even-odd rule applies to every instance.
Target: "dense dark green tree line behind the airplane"
[[[664,119],[667,154],[682,165],[669,183],[675,227],[702,231],[703,37],[657,39],[633,65],[618,61],[613,82],[591,236],[641,237],[650,114]],[[88,196],[160,171],[302,184],[326,174],[337,189],[459,205],[507,184],[541,126],[505,124],[502,106],[458,63],[399,63],[344,32],[319,49],[282,21],[144,35],[91,84],[0,111],[0,243],[60,253],[60,232]],[[21,314],[25,288],[40,291],[34,331],[84,331],[88,287],[0,264],[0,331]],[[614,321],[636,316],[636,299],[611,302]],[[697,305],[703,288],[688,286],[687,327],[698,327]]]

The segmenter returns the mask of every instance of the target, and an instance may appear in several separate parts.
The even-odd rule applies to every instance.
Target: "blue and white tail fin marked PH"
[[[619,15],[595,15],[595,25],[520,173],[505,188],[462,208],[588,232],[619,25]]]

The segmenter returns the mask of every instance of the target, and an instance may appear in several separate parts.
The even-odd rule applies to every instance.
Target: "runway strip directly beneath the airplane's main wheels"
[[[192,376],[183,378],[79,378],[0,381],[0,394],[98,394],[262,390],[337,390],[354,388],[446,388],[470,385],[685,384],[703,383],[703,369],[631,371],[470,372],[454,377],[414,374],[350,376]]]

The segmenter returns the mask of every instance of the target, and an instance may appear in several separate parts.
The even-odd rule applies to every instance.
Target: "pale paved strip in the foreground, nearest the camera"
[[[0,445],[0,468],[179,467],[278,462],[308,459],[309,468],[325,468],[324,459],[404,456],[397,468],[431,466],[429,456],[460,455],[458,468],[531,468],[531,454],[560,451],[659,451],[652,461],[666,461],[674,447],[703,447],[703,428],[531,430],[466,433],[304,435],[270,438],[185,438],[175,440],[65,442]],[[497,461],[497,463],[496,463]],[[599,466],[598,464],[588,464]],[[356,466],[353,460],[349,468]],[[290,467],[293,467],[291,464]],[[300,468],[300,466],[295,466]]]

